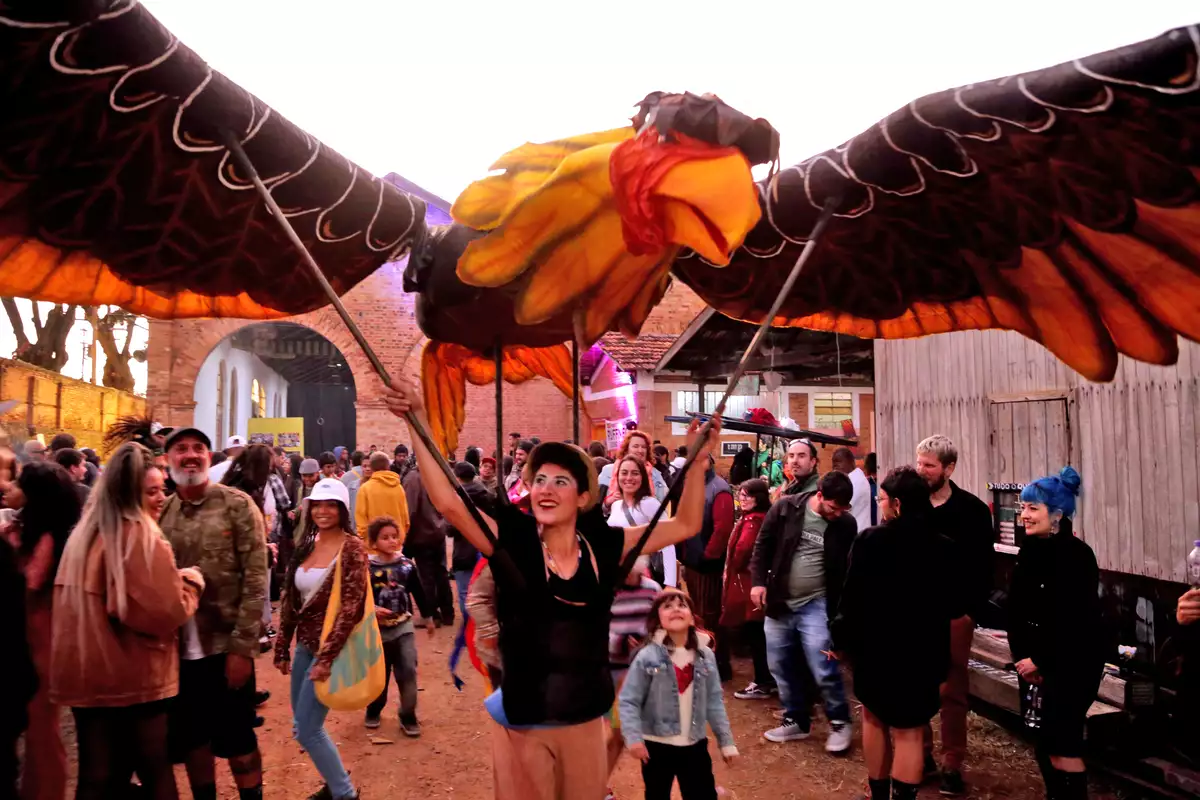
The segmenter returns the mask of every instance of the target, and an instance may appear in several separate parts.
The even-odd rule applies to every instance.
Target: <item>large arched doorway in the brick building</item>
[[[196,426],[214,437],[247,434],[254,417],[302,417],[304,451],[316,456],[358,440],[354,375],[342,351],[295,323],[238,329],[208,354],[196,377]]]

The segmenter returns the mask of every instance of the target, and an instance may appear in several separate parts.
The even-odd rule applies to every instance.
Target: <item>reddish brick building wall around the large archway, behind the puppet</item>
[[[407,375],[415,381],[425,337],[416,325],[413,296],[402,289],[402,264],[385,265],[346,294],[342,301],[384,366],[392,374]],[[359,439],[347,445],[366,450],[376,444],[390,450],[398,441],[407,443],[407,428],[388,413],[379,399],[383,384],[336,312],[326,307],[286,321],[320,333],[347,359],[358,396],[355,416]],[[252,324],[256,323],[244,319],[151,321],[146,402],[155,419],[163,425],[191,425],[196,407],[196,375],[200,365],[221,339]],[[463,447],[478,445],[485,452],[494,449],[494,396],[491,386],[467,387],[467,422],[458,438]],[[589,425],[584,416],[582,429],[587,432]],[[548,380],[535,378],[520,386],[505,385],[505,435],[509,431],[520,431],[542,439],[565,439],[571,435],[570,428],[570,398]]]

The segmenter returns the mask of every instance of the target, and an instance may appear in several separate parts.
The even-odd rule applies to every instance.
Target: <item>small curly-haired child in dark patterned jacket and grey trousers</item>
[[[401,553],[404,534],[391,517],[377,517],[367,525],[367,547],[371,548],[371,591],[374,595],[379,638],[388,680],[396,675],[400,686],[400,729],[406,736],[420,736],[416,721],[416,638],[413,626],[413,603],[425,618],[425,630],[433,636],[433,609],[425,600],[416,563]],[[367,706],[366,727],[378,728],[379,715],[388,704],[388,682],[383,692]]]

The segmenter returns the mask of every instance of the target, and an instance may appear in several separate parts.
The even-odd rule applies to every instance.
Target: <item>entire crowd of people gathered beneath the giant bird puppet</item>
[[[404,384],[385,399],[397,416],[421,413]],[[452,459],[452,481],[416,437],[412,452],[312,458],[241,437],[215,452],[199,429],[124,420],[103,464],[68,435],[0,449],[0,585],[17,644],[0,798],[64,798],[64,708],[77,798],[178,798],[174,764],[193,798],[216,798],[217,759],[240,798],[260,798],[256,708],[269,696],[256,658],[269,651],[323,780],[313,798],[358,798],[325,732],[334,664],[373,608],[389,676],[364,726],[380,727],[394,675],[398,729],[420,736],[416,622],[451,626],[456,607],[485,664],[502,800],[612,796],[622,753],[641,762],[648,800],[674,783],[685,800],[716,798],[709,732],[738,757],[722,690],[733,643],[752,663],[733,698],[782,706],[768,741],[809,738],[820,709],[824,748],[847,752],[848,669],[868,796],[916,798],[930,780],[964,794],[967,661],[991,614],[994,534],[988,506],[953,481],[954,443],[920,441],[881,480],[874,456],[859,467],[845,447],[822,475],[816,445],[796,439],[731,483],[719,433],[718,420],[690,461],[636,428],[616,452],[514,433],[505,453]],[[1084,726],[1110,649],[1096,558],[1072,534],[1079,487],[1068,467],[1024,489],[1007,602],[1058,800],[1087,796]],[[1195,590],[1178,619],[1200,622]]]

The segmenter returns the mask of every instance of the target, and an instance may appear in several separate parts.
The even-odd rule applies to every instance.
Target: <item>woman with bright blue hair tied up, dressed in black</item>
[[[1072,533],[1080,477],[1070,467],[1021,491],[1025,541],[1009,589],[1008,642],[1022,704],[1038,687],[1037,759],[1049,800],[1087,798],[1084,726],[1104,675],[1105,636],[1092,548]],[[1039,717],[1039,718],[1038,718]]]

